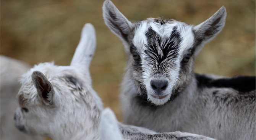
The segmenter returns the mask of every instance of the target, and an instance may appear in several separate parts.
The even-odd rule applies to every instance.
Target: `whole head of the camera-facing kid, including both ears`
[[[191,80],[195,57],[224,27],[226,9],[223,6],[197,26],[162,18],[131,23],[106,0],[103,17],[130,55],[128,67],[139,96],[163,105]]]

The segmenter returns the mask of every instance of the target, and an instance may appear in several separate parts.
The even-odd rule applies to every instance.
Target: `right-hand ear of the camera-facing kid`
[[[226,8],[222,6],[211,18],[194,26],[195,31],[195,54],[203,48],[203,45],[213,39],[223,29],[226,21]]]

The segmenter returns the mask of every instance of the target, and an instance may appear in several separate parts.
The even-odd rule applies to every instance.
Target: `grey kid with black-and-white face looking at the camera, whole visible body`
[[[194,73],[204,44],[225,24],[226,9],[192,26],[173,19],[131,23],[106,0],[105,24],[125,46],[121,103],[126,124],[219,140],[255,139],[255,77]]]

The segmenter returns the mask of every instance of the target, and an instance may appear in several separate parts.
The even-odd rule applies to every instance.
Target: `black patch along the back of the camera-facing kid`
[[[214,80],[204,75],[196,74],[196,80],[198,81],[198,87],[233,88],[242,93],[255,90],[256,87],[255,76],[236,76]]]

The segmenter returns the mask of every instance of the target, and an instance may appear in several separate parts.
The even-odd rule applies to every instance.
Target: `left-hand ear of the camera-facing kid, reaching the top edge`
[[[102,10],[105,24],[123,41],[126,51],[128,50],[129,52],[129,36],[133,24],[125,18],[110,0],[105,0]]]

